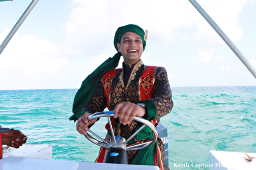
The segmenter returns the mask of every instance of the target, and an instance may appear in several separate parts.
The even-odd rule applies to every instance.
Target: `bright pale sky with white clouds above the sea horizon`
[[[0,43],[31,2],[0,2]],[[197,2],[256,68],[256,0]],[[171,87],[256,86],[188,0],[39,0],[0,55],[0,90],[79,88],[127,24],[148,29],[141,59],[165,67]]]

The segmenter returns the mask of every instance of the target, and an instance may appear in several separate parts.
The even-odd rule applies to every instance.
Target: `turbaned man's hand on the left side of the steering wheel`
[[[97,112],[95,112],[95,113],[97,113]],[[92,114],[91,113],[84,113],[83,115],[80,116],[80,118],[76,122],[76,130],[82,135],[87,135],[86,131],[89,130],[88,126],[97,121],[97,119],[93,119],[93,120],[89,121],[88,117],[90,115],[92,115]]]

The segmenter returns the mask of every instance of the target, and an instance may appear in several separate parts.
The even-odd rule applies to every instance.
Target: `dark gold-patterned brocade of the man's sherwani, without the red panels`
[[[140,88],[139,88],[139,81],[140,78],[145,71],[145,65],[140,60],[134,64],[133,68],[131,69],[130,76],[128,78],[127,84],[124,82],[123,76],[123,69],[112,78],[111,84],[106,83],[107,81],[101,78],[101,81],[97,84],[97,89],[94,92],[93,96],[87,101],[84,108],[82,109],[82,113],[86,112],[102,112],[107,107],[107,99],[105,95],[104,89],[111,86],[111,91],[109,92],[109,109],[113,110],[116,104],[119,104],[123,101],[128,101],[131,103],[135,103],[140,101]],[[148,99],[152,101],[152,104],[156,106],[156,116],[153,119],[156,119],[158,122],[160,121],[160,117],[168,114],[172,107],[172,91],[170,89],[169,81],[167,78],[166,69],[163,67],[157,67],[155,71],[154,77],[151,77],[153,81],[153,90],[152,90],[152,98]],[[147,88],[146,86],[143,88]],[[144,91],[145,92],[145,91]],[[147,105],[146,105],[147,106]],[[146,111],[147,112],[147,111]],[[147,113],[145,114],[145,117]],[[134,132],[134,128],[139,126],[140,123],[137,121],[132,121],[128,125],[121,124],[120,129],[121,133],[120,136],[122,137],[129,137]],[[114,128],[116,129],[116,127]],[[116,133],[116,130],[115,130]],[[164,146],[162,140],[158,137],[157,143],[161,150],[161,159],[163,161],[165,169],[169,169],[165,165],[165,154],[164,154]],[[128,151],[128,164],[131,164],[134,156],[137,154],[137,150],[135,151]]]

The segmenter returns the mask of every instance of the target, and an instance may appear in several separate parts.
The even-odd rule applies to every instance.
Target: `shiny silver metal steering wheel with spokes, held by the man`
[[[98,112],[98,113],[94,113],[92,115],[90,115],[88,117],[88,120],[93,120],[93,119],[96,119],[96,118],[102,118],[102,117],[108,117],[108,124],[110,125],[110,128],[111,128],[111,133],[112,133],[112,138],[115,136],[114,133],[113,133],[113,129],[112,129],[112,126],[111,126],[111,122],[110,122],[110,117],[113,117],[114,114],[113,114],[113,111],[106,111],[106,112]],[[119,115],[118,115],[119,116]],[[131,138],[133,138],[134,135],[136,135],[137,133],[140,132],[140,130],[142,130],[145,126],[148,126],[152,132],[154,133],[154,138],[152,141],[147,141],[147,142],[143,142],[143,143],[140,143],[140,144],[134,144],[134,145],[131,145],[131,146],[127,146],[126,147],[126,151],[131,151],[131,150],[140,150],[140,149],[143,149],[145,147],[149,147],[151,146],[152,144],[154,144],[156,141],[157,141],[157,130],[156,128],[154,127],[153,124],[151,124],[151,122],[145,120],[144,118],[138,118],[138,117],[134,117],[135,121],[139,121],[140,123],[144,124],[139,130],[137,130],[133,135],[131,135],[130,138],[128,138],[124,144],[126,144],[128,141],[131,140]],[[102,141],[99,141],[97,140],[96,138],[93,138],[89,133],[87,133],[87,135],[85,135],[85,137],[93,142],[94,144],[98,145],[98,146],[101,146],[101,147],[105,147],[105,148],[108,148],[109,146],[109,142],[104,140],[103,138],[101,138],[99,135],[97,135],[96,133],[94,133],[93,131],[91,130],[88,130],[87,132],[90,132],[92,133],[93,135],[95,135],[97,138],[101,139]]]

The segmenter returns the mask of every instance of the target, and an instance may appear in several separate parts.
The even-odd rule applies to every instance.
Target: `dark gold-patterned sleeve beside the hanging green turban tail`
[[[93,96],[84,105],[82,112],[88,111],[90,113],[102,112],[107,107],[107,99],[105,97],[104,87],[102,81],[99,81]]]

